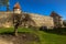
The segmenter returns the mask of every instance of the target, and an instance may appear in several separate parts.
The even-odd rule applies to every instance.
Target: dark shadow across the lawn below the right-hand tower
[[[58,28],[58,29],[53,29],[53,30],[41,30],[46,33],[53,33],[53,34],[58,34],[58,35],[66,35],[66,28]]]

